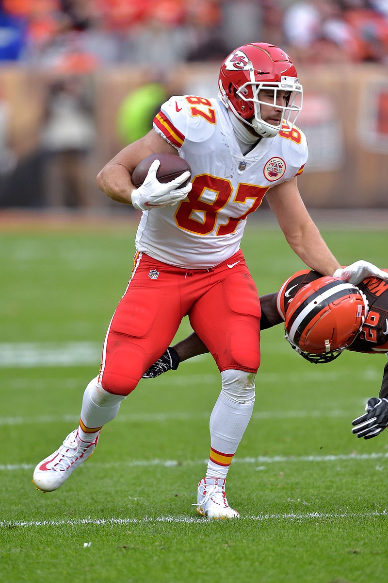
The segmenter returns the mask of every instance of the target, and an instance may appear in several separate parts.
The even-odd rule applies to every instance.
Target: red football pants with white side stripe
[[[220,371],[257,373],[261,310],[243,253],[211,269],[178,268],[137,253],[105,336],[102,387],[118,395],[133,391],[170,346],[185,315]]]

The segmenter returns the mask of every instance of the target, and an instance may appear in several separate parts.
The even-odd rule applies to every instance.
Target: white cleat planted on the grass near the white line
[[[204,477],[198,484],[198,514],[207,518],[239,518],[237,510],[230,508],[226,500],[225,480],[219,477]]]

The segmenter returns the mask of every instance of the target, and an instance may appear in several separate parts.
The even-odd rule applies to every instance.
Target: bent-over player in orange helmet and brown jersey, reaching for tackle
[[[388,274],[388,269],[383,269]],[[260,328],[285,322],[286,339],[306,360],[318,364],[336,359],[343,350],[388,357],[388,281],[376,276],[357,286],[323,278],[315,271],[298,271],[278,293],[260,298]],[[366,308],[366,309],[365,309]],[[143,374],[155,378],[197,354],[208,352],[193,333],[165,353]],[[357,437],[371,439],[388,426],[388,363],[378,397],[353,421]]]

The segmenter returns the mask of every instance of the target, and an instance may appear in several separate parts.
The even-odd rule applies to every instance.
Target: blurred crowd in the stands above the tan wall
[[[249,41],[384,64],[388,0],[0,0],[0,61],[42,68],[219,62]]]

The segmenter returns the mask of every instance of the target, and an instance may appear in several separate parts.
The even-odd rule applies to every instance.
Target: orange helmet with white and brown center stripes
[[[366,297],[353,284],[323,277],[297,291],[286,312],[286,339],[313,363],[336,359],[351,345],[368,312]]]

